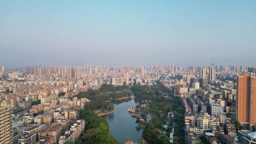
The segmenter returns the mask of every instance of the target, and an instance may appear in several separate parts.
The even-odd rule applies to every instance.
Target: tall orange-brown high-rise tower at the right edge
[[[256,76],[244,73],[237,77],[237,120],[242,124],[256,124]]]

